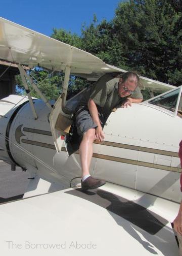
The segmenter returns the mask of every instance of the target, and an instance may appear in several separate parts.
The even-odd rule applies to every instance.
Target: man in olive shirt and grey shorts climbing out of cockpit
[[[82,189],[94,189],[105,184],[104,180],[95,179],[89,175],[93,142],[104,140],[103,127],[114,108],[125,108],[132,103],[142,102],[143,95],[138,86],[139,83],[139,76],[134,72],[124,73],[120,77],[106,74],[92,89],[84,92],[75,114],[77,132],[82,136],[79,146]]]

